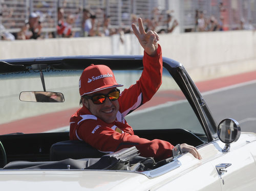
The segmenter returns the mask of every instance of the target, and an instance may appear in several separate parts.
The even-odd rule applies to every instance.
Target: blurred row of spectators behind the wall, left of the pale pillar
[[[77,13],[66,13],[65,8],[57,9],[57,23],[54,25],[53,19],[47,19],[40,12],[32,12],[28,20],[24,20],[24,24],[18,32],[10,33],[0,24],[0,34],[2,40],[26,40],[26,39],[43,39],[43,38],[71,38],[71,37],[91,37],[91,36],[111,36],[120,35],[123,41],[125,33],[132,33],[131,23],[137,22],[137,15],[131,14],[131,23],[129,27],[111,26],[111,16],[106,15],[103,10],[97,10],[97,13],[90,9],[78,9]],[[98,17],[97,15],[102,15]],[[147,30],[154,30],[158,33],[171,33],[179,25],[170,12],[166,15],[160,13],[159,9],[153,10],[152,18],[145,18],[143,22]],[[11,16],[10,16],[11,18]],[[52,22],[55,31],[44,31],[44,23]]]

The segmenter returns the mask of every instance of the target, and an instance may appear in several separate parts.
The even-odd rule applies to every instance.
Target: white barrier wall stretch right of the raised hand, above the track
[[[228,31],[162,35],[163,56],[181,62],[195,80],[256,69],[256,32]]]

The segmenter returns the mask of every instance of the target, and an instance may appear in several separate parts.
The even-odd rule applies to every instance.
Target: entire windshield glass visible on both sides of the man
[[[42,91],[38,71],[0,75],[1,122],[0,134],[39,133],[69,131],[71,115],[79,109],[78,80],[81,70],[52,70],[44,73],[47,91],[61,92],[63,103],[21,102],[21,91]],[[118,83],[127,88],[136,83],[142,70],[114,70]],[[163,82],[153,99],[133,111],[126,121],[135,130],[185,129],[203,134],[203,128],[167,70],[163,70]]]

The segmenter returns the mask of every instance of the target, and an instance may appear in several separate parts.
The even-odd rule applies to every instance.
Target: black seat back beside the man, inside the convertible
[[[50,148],[50,160],[58,161],[67,158],[100,158],[106,153],[100,152],[89,144],[80,140],[66,140],[53,144]]]

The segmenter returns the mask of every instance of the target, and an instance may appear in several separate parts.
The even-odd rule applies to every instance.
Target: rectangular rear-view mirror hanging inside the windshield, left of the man
[[[52,91],[23,91],[19,94],[19,100],[24,102],[64,102],[64,96]]]

